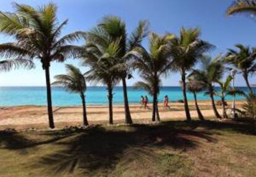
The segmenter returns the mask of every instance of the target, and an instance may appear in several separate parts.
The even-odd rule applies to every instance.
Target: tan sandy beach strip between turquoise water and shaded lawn
[[[243,101],[237,101],[237,107],[241,107]],[[210,101],[199,101],[200,109],[205,117],[213,117]],[[161,120],[185,118],[184,105],[182,103],[172,102],[169,104],[170,109],[164,109],[163,105],[159,104]],[[231,101],[228,101],[228,107],[231,106]],[[136,122],[150,121],[151,104],[149,109],[140,108],[139,104],[130,105],[132,118]],[[194,102],[189,102],[190,113],[192,118],[197,118],[197,112],[194,107]],[[48,115],[46,106],[36,105],[21,105],[15,107],[0,108],[0,128],[22,128],[22,127],[37,127],[38,125],[48,125]],[[81,107],[54,107],[54,121],[61,123],[63,126],[81,124],[82,108]],[[124,120],[123,105],[114,105],[114,123],[122,123]],[[218,111],[221,113],[221,107],[218,106]],[[107,123],[108,122],[108,105],[88,105],[88,121],[89,123]]]

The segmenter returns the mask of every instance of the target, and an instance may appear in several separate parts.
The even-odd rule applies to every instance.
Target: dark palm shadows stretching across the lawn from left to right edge
[[[155,164],[161,159],[160,149],[163,152],[169,148],[186,151],[197,148],[201,141],[215,143],[217,140],[212,135],[217,132],[211,130],[256,135],[254,125],[244,123],[167,121],[156,125],[95,126],[87,130],[41,131],[39,135],[47,136],[47,140],[32,140],[17,132],[2,131],[0,147],[16,150],[55,143],[62,150],[53,149],[50,154],[33,162],[33,167],[44,168],[49,170],[47,173],[53,174],[68,174],[79,170],[83,175],[101,173],[104,176],[113,173],[117,166],[120,169],[129,168],[130,162]],[[167,154],[166,157],[169,156]]]

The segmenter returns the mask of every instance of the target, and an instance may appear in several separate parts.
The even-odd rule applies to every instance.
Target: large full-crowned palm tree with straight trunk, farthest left
[[[57,7],[53,3],[37,9],[14,3],[14,9],[15,13],[0,12],[0,31],[14,38],[12,43],[0,45],[0,54],[16,59],[40,60],[46,76],[49,127],[54,128],[49,67],[51,62],[63,62],[80,51],[79,47],[68,43],[79,39],[82,32],[59,38],[67,20],[58,23]]]

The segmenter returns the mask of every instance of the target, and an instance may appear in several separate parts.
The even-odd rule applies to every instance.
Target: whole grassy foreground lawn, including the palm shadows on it
[[[254,126],[216,121],[0,131],[0,176],[256,176]]]

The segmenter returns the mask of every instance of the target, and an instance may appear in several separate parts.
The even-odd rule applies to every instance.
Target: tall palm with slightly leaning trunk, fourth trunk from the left
[[[132,118],[130,116],[129,102],[127,96],[127,86],[126,78],[131,78],[128,60],[132,57],[132,51],[136,47],[140,47],[143,38],[147,36],[148,33],[148,23],[146,21],[140,21],[139,25],[127,36],[126,23],[124,23],[119,17],[107,16],[103,18],[102,22],[99,24],[100,33],[97,35],[91,35],[90,40],[95,43],[101,43],[102,36],[108,34],[111,40],[119,42],[119,53],[117,54],[115,67],[119,70],[119,76],[122,80],[122,88],[124,93],[124,110],[126,113],[126,123],[132,123]]]

